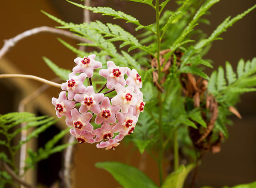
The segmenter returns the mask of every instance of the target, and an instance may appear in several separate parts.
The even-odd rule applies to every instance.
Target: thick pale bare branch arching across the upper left
[[[15,44],[18,41],[22,40],[23,38],[27,38],[29,36],[32,36],[41,32],[49,32],[49,33],[64,35],[66,37],[73,38],[85,43],[92,43],[92,41],[79,37],[77,35],[74,35],[72,32],[69,32],[63,29],[57,29],[54,27],[41,26],[41,27],[36,27],[34,29],[27,30],[23,33],[20,33],[19,35],[15,36],[14,38],[10,38],[9,40],[5,40],[5,43],[2,49],[0,50],[0,59],[6,54],[6,52],[8,52],[13,46],[15,46]]]

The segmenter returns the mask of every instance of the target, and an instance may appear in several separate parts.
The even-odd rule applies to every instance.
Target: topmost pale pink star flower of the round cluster
[[[102,63],[95,61],[95,57],[96,55],[92,54],[87,58],[76,58],[74,61],[77,66],[73,68],[73,72],[84,72],[88,78],[91,78],[93,76],[93,70],[102,67]]]

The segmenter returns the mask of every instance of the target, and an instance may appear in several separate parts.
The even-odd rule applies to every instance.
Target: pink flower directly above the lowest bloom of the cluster
[[[113,130],[112,130],[112,125],[109,125],[108,122],[104,122],[102,127],[93,130],[92,133],[96,135],[96,138],[94,139],[95,142],[99,142],[102,139],[108,140],[111,139],[114,136]]]

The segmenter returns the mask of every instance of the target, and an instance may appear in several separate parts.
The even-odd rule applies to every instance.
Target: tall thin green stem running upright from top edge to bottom
[[[159,28],[159,0],[156,0],[155,5],[156,10],[156,23],[157,23],[157,65],[158,65],[158,83],[161,81],[161,66],[160,66],[160,28]],[[159,151],[159,158],[158,158],[158,169],[159,169],[159,179],[160,179],[160,186],[163,184],[163,127],[162,127],[162,95],[161,92],[158,91],[158,101],[159,101],[159,121],[158,121],[158,128],[159,128],[159,141],[160,141],[160,151]]]

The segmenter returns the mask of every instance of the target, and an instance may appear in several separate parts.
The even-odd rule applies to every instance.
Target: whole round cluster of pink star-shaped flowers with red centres
[[[139,114],[143,112],[142,81],[135,69],[117,67],[113,61],[108,61],[108,69],[99,70],[107,83],[95,93],[91,77],[94,69],[102,67],[101,62],[95,61],[95,56],[74,60],[77,65],[69,74],[69,80],[61,84],[64,91],[59,98],[52,98],[52,104],[58,118],[67,117],[66,124],[72,127],[70,133],[80,144],[100,142],[97,148],[114,149],[124,136],[133,133]],[[80,74],[77,76],[76,73]],[[126,80],[125,74],[128,76]],[[85,78],[89,79],[88,87],[83,84]],[[110,90],[101,93],[105,87]],[[114,91],[116,96],[105,96]],[[79,109],[75,107],[76,103],[81,104]],[[92,120],[101,127],[94,129],[90,124]]]

